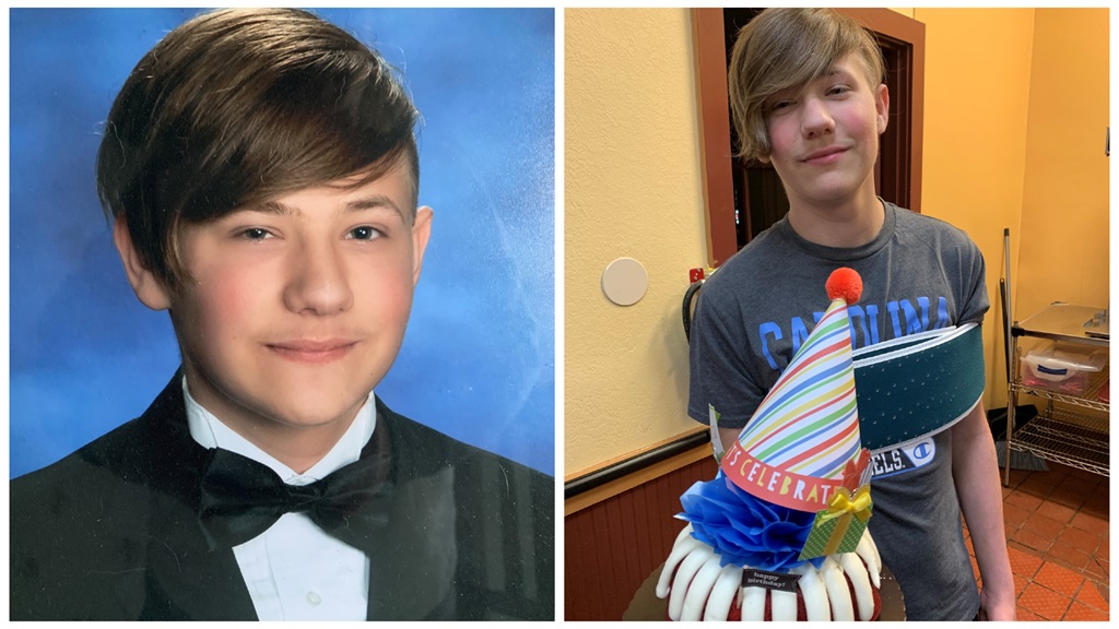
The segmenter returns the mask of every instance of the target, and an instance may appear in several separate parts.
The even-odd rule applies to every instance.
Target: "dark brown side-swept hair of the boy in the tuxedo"
[[[97,153],[105,214],[125,220],[168,287],[186,273],[181,224],[407,161],[413,210],[419,113],[392,68],[342,29],[295,9],[203,13],[124,82]]]

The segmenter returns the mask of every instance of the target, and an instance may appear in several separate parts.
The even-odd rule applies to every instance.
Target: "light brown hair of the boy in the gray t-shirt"
[[[770,153],[765,100],[824,76],[854,53],[871,87],[885,78],[882,49],[855,20],[831,9],[765,9],[739,31],[727,86],[739,157]]]

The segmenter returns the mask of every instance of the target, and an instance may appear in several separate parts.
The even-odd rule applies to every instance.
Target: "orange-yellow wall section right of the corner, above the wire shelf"
[[[1018,319],[1052,301],[1108,306],[1108,9],[1037,9]]]

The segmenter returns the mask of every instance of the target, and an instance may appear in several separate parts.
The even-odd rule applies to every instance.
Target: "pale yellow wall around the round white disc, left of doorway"
[[[564,41],[564,459],[567,473],[679,434],[688,269],[706,261],[692,22],[684,9],[572,9]],[[649,275],[614,306],[602,271]]]

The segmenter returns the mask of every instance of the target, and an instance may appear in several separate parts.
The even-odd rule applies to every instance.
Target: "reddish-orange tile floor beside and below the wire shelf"
[[[1012,469],[1003,487],[1017,618],[1108,620],[1109,479],[1046,464],[1049,471]],[[971,565],[978,575],[974,553]]]

